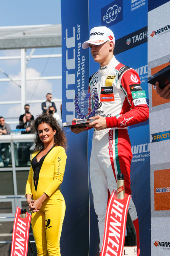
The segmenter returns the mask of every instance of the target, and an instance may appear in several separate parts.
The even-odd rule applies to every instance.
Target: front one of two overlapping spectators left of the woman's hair
[[[17,125],[17,129],[25,129],[25,131],[21,131],[21,134],[30,134],[33,131],[33,124],[34,120],[31,120],[31,113],[27,112],[26,114],[26,122],[23,122],[20,125]],[[18,148],[18,159],[22,159],[22,152],[24,154],[24,159],[26,162],[26,166],[30,166],[30,147],[31,143],[30,142],[22,142],[19,143],[19,148]]]

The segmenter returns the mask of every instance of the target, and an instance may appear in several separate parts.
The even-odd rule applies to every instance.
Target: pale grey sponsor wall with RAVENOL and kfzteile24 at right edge
[[[148,75],[170,61],[170,1],[148,1]],[[149,84],[151,256],[170,255],[170,100]]]

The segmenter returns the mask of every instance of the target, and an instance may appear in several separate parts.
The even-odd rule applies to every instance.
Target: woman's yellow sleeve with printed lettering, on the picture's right
[[[65,150],[62,147],[59,147],[59,151],[56,154],[54,160],[54,178],[51,184],[45,189],[44,193],[49,197],[57,190],[59,185],[62,183],[64,171],[65,171],[65,163],[66,163],[66,154]]]

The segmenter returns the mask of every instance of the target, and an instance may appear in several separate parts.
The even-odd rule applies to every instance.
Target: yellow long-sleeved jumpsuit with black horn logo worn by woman
[[[40,151],[33,154],[36,157]],[[39,212],[32,213],[31,225],[37,246],[37,256],[60,256],[59,240],[65,215],[65,201],[59,185],[65,171],[66,154],[61,146],[54,146],[43,160],[37,189],[34,185],[34,171],[31,165],[26,183],[26,194],[37,200],[43,193],[48,198]]]

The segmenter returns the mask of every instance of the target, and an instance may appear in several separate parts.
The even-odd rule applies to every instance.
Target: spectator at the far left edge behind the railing
[[[3,116],[0,116],[0,135],[10,134],[11,127],[5,123]],[[5,164],[1,156],[1,150],[5,148]],[[8,166],[10,160],[10,143],[0,143],[0,167]]]

